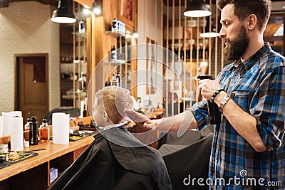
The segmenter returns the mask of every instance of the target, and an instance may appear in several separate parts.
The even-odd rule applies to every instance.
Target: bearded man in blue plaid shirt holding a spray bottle
[[[269,0],[217,0],[224,58],[217,80],[200,80],[204,99],[189,110],[143,127],[163,130],[209,124],[207,101],[219,106],[209,160],[209,189],[285,189],[285,58],[264,43]],[[128,117],[142,120],[132,110]],[[190,161],[191,162],[191,155]]]

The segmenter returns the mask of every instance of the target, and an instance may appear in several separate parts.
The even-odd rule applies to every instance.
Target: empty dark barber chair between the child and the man
[[[213,126],[210,125],[202,131],[188,130],[181,137],[177,137],[177,132],[167,132],[160,139],[157,149],[165,160],[173,189],[209,189],[206,179],[212,132]],[[199,178],[203,179],[204,186],[198,184]]]

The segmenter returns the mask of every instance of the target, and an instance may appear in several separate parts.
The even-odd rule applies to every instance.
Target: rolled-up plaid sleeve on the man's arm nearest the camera
[[[257,89],[250,109],[257,119],[257,131],[271,151],[281,147],[285,133],[285,66],[272,68]]]

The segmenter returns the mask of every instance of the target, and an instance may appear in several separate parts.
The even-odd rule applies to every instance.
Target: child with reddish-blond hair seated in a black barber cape
[[[124,109],[132,107],[128,90],[99,90],[93,120],[100,133],[49,189],[172,189],[160,153],[139,142],[123,124]]]

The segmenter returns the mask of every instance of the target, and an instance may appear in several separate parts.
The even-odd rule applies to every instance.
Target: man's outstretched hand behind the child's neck
[[[148,117],[145,117],[134,110],[125,109],[124,112],[130,118],[130,120],[135,122],[136,125],[139,127],[144,127],[146,130],[152,130],[158,125],[158,120],[150,120]]]

